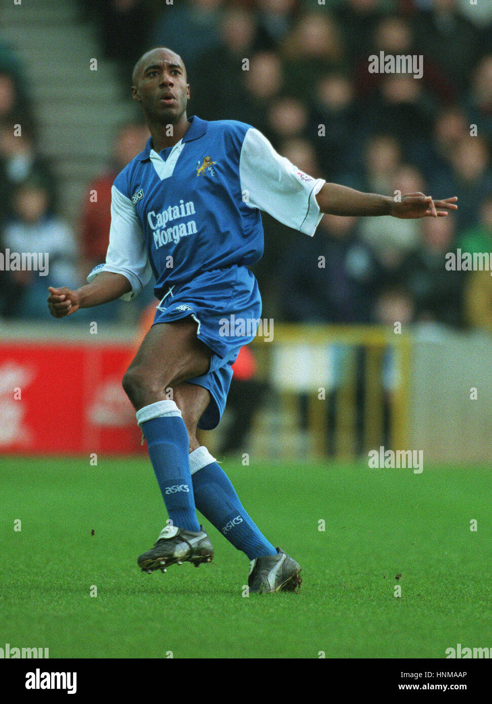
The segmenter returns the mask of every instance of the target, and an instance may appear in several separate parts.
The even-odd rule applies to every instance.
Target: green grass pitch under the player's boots
[[[490,468],[223,467],[263,532],[301,562],[300,593],[243,596],[248,560],[207,522],[210,565],[141,573],[137,556],[166,518],[145,459],[2,458],[0,647],[47,647],[50,658],[445,658],[457,643],[492,647]]]

